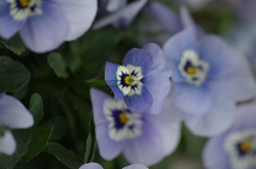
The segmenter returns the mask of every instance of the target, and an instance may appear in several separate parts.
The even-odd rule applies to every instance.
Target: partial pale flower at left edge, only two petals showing
[[[0,94],[0,153],[12,155],[16,151],[10,129],[29,128],[33,124],[33,116],[18,99]]]

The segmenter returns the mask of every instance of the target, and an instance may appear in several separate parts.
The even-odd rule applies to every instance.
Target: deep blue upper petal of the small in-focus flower
[[[123,58],[123,66],[131,64],[142,69],[142,76],[145,76],[153,66],[153,59],[150,53],[143,49],[133,48]]]

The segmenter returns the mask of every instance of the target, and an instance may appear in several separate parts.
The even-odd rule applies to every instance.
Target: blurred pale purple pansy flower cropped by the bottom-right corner
[[[210,138],[203,149],[207,169],[256,168],[256,102],[240,105],[232,127]]]

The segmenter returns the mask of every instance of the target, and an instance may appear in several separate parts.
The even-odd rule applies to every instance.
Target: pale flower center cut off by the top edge
[[[11,3],[10,15],[14,20],[26,20],[29,16],[41,15],[42,0],[6,0]]]

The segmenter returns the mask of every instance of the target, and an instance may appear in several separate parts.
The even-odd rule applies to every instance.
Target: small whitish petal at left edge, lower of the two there
[[[10,131],[6,131],[5,135],[0,137],[0,153],[12,155],[16,151],[16,141]]]

